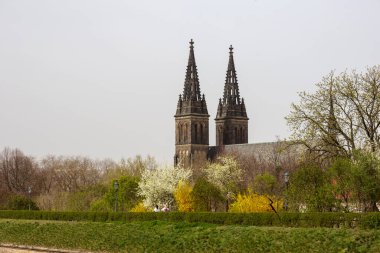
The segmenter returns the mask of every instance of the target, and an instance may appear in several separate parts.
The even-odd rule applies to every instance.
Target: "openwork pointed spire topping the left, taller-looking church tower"
[[[191,39],[189,61],[186,69],[185,87],[183,89],[183,100],[198,101],[201,99],[202,97],[199,88],[198,71],[194,56],[194,41]]]

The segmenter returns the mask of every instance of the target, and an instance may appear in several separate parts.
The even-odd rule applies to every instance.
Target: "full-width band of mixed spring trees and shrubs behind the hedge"
[[[1,208],[146,212],[158,205],[183,212],[378,211],[380,161],[373,153],[357,151],[326,163],[308,152],[290,159],[286,150],[273,149],[274,160],[268,154],[266,159],[224,154],[194,173],[180,166],[158,166],[152,157],[119,163],[55,156],[36,161],[6,148],[0,155]]]

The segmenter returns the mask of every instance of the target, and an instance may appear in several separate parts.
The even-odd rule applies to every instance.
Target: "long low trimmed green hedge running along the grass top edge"
[[[0,211],[0,218],[62,221],[186,221],[213,224],[287,227],[380,228],[380,213],[122,213]]]

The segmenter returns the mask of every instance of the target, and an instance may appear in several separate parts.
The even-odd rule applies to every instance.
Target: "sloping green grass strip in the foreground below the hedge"
[[[380,231],[0,219],[0,242],[102,252],[380,252]]]

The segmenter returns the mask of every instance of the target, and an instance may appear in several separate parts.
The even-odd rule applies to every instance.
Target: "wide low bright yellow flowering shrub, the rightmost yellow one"
[[[254,192],[239,193],[228,211],[233,213],[273,212],[271,205],[276,211],[283,208],[282,200],[276,200],[274,196],[259,195]]]

